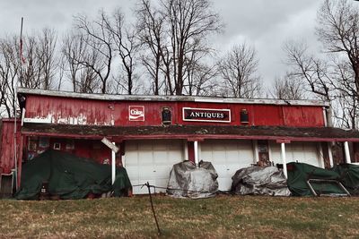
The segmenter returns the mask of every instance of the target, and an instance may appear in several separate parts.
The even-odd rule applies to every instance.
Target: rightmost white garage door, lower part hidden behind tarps
[[[280,143],[270,141],[270,160],[275,164],[282,164]],[[323,167],[323,162],[319,156],[318,143],[292,141],[285,144],[286,162],[306,163],[312,166]]]

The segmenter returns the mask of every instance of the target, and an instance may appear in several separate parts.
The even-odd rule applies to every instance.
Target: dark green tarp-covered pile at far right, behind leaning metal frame
[[[287,170],[287,184],[293,196],[313,195],[308,183],[311,184],[313,190],[319,195],[340,195],[346,193],[340,184],[351,195],[359,195],[359,166],[343,164],[334,166],[331,169],[323,169],[303,163],[289,163],[287,164]]]

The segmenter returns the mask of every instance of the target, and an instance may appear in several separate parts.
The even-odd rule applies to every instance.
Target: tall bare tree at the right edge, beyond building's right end
[[[347,0],[325,0],[318,13],[317,34],[331,56],[337,90],[335,115],[339,124],[358,126],[359,7]]]

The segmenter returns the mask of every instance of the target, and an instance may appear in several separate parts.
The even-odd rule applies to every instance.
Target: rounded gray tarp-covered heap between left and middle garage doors
[[[214,197],[218,191],[217,173],[210,162],[201,161],[197,168],[190,161],[172,167],[167,193],[177,198]]]

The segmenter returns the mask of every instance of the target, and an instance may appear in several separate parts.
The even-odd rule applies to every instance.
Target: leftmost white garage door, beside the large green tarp
[[[171,167],[183,160],[183,142],[171,140],[126,141],[124,164],[131,184],[149,183],[167,187]],[[147,193],[147,187],[134,187],[135,194]],[[153,192],[153,191],[151,191]],[[165,192],[156,189],[156,192]]]

